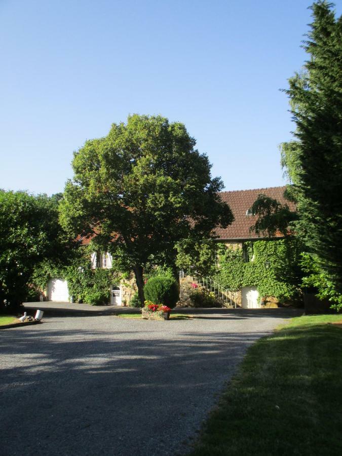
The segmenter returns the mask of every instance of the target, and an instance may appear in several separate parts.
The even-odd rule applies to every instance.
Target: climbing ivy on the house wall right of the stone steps
[[[222,286],[231,291],[255,286],[260,296],[274,296],[280,302],[299,297],[302,249],[296,239],[256,241],[246,247],[248,262],[241,248],[220,248],[216,278]]]

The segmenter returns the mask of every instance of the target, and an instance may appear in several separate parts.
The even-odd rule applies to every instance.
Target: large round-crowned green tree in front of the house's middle
[[[133,115],[74,153],[60,220],[109,250],[118,269],[133,270],[141,301],[144,268],[174,267],[177,242],[233,219],[218,196],[222,181],[195,144],[181,123]]]

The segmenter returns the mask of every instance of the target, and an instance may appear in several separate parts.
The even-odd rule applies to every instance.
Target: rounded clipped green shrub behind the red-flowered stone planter
[[[172,277],[151,277],[144,288],[145,299],[173,309],[179,299],[178,284]]]

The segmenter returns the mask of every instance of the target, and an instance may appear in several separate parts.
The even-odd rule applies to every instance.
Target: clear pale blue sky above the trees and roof
[[[0,0],[0,187],[63,191],[72,151],[129,113],[183,122],[225,190],[284,184],[310,4]]]

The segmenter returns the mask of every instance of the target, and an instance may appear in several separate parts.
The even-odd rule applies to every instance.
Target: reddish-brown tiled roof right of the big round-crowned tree
[[[295,204],[284,198],[286,185],[282,187],[255,188],[254,190],[237,190],[233,192],[220,192],[222,201],[227,203],[234,215],[234,221],[226,228],[216,228],[215,234],[218,239],[258,239],[262,235],[250,232],[250,227],[256,222],[254,215],[246,215],[247,210],[252,206],[258,195],[266,195],[273,198],[282,205],[287,204],[290,210],[295,210]],[[276,233],[276,237],[282,237]]]

